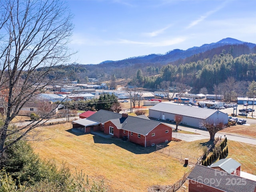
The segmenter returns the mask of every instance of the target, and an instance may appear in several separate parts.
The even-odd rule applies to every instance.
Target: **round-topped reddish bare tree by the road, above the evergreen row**
[[[208,132],[210,134],[210,141],[214,141],[215,134],[218,131],[225,128],[225,125],[223,124],[223,122],[221,120],[213,120],[213,119],[203,120],[201,122],[201,126],[205,127],[208,130]]]

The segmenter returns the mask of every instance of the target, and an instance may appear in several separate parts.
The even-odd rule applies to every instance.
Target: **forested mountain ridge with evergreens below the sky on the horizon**
[[[256,79],[256,44],[226,38],[186,51],[172,50],[165,55],[148,55],[96,65],[72,64],[70,80],[86,82],[88,78],[102,81],[124,78],[138,87],[154,88],[162,81],[180,82],[195,91],[214,86],[228,78],[235,81]],[[62,68],[62,73],[63,73]]]

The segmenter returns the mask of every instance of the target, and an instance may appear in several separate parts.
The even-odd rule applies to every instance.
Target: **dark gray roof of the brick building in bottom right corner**
[[[256,190],[256,181],[202,165],[196,165],[189,174],[188,179],[225,192],[255,192]]]

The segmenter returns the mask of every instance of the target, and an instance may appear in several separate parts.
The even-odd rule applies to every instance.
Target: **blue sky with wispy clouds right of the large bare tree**
[[[68,0],[71,62],[165,54],[235,38],[256,43],[256,0]]]

